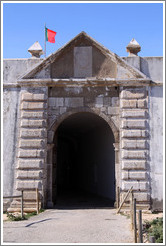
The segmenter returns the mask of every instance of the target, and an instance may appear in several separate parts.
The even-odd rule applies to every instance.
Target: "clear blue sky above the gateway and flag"
[[[81,31],[119,56],[128,56],[132,38],[140,56],[163,55],[162,3],[4,3],[3,57],[29,58],[28,48],[39,41],[44,49],[44,24],[57,32],[47,42],[47,55]]]

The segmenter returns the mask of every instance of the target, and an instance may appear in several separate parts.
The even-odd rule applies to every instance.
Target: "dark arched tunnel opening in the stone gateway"
[[[75,113],[60,124],[54,142],[56,207],[113,206],[114,136],[108,123],[93,113]]]

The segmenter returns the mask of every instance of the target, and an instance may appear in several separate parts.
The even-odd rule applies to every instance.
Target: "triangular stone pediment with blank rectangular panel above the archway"
[[[147,78],[85,32],[45,58],[21,79]]]

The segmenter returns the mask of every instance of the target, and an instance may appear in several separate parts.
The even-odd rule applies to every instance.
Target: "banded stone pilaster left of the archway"
[[[44,202],[43,185],[47,146],[47,89],[22,89],[16,189],[24,190],[24,211],[36,210],[36,188]],[[19,211],[20,201],[13,200],[9,211]]]

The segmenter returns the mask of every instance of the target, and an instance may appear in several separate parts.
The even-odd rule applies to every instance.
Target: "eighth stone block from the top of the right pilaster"
[[[123,170],[146,170],[146,161],[144,160],[122,160]]]

